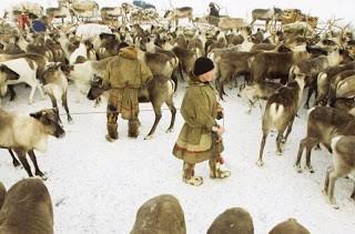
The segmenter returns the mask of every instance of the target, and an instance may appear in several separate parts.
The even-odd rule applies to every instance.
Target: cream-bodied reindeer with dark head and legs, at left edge
[[[29,176],[33,176],[26,154],[36,169],[36,175],[44,176],[40,171],[33,150],[47,150],[48,135],[63,138],[65,134],[59,124],[58,109],[44,109],[30,116],[7,112],[0,109],[0,147],[13,150]],[[11,154],[12,159],[13,155]]]

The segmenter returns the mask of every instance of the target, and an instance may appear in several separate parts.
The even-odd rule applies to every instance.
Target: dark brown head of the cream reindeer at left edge
[[[30,116],[43,124],[45,133],[59,139],[65,135],[65,131],[60,124],[58,108],[44,109],[34,113],[30,113]]]

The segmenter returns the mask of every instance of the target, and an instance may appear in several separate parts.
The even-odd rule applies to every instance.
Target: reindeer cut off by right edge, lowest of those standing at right
[[[355,175],[355,136],[338,135],[332,139],[333,167],[328,169],[325,176],[323,193],[334,208],[338,208],[334,197],[334,186],[338,177]],[[352,194],[355,199],[355,187]]]

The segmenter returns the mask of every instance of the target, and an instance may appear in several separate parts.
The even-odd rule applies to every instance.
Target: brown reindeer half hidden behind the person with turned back
[[[156,125],[162,118],[161,106],[165,103],[171,111],[171,122],[166,132],[171,132],[174,128],[176,109],[173,102],[174,82],[170,78],[159,74],[153,74],[153,79],[139,90],[139,102],[151,102],[154,109],[155,120],[151,131],[145,136],[145,140],[151,139],[155,132]],[[91,89],[88,93],[89,100],[99,98],[105,90],[102,87],[102,78],[95,77],[91,82]]]

